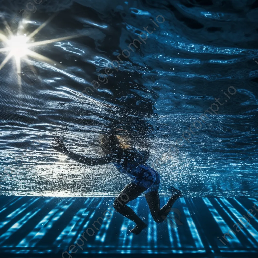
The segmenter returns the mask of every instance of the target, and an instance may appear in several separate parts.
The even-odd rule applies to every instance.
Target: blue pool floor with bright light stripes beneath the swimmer
[[[174,213],[157,224],[145,198],[139,197],[130,203],[148,224],[139,235],[128,231],[134,227],[133,222],[111,209],[114,199],[0,196],[0,254],[60,258],[257,257],[257,198],[180,198],[173,206]],[[167,199],[160,198],[161,206]],[[229,229],[227,242],[223,236]]]

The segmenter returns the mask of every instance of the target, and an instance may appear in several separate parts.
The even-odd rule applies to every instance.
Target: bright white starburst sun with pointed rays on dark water
[[[49,64],[57,63],[41,54],[38,54],[34,51],[32,51],[31,47],[36,47],[40,45],[46,45],[53,42],[60,42],[66,39],[71,39],[83,35],[70,35],[66,37],[61,38],[54,38],[54,39],[48,39],[44,41],[33,41],[33,37],[41,30],[43,29],[53,18],[55,15],[50,17],[47,21],[45,21],[41,26],[39,26],[36,30],[34,30],[30,35],[27,36],[26,33],[21,33],[21,30],[24,29],[23,25],[18,27],[17,34],[14,35],[11,32],[10,27],[8,26],[7,22],[5,21],[5,27],[6,31],[8,31],[8,36],[5,35],[2,31],[0,31],[0,42],[3,42],[4,47],[0,49],[0,53],[7,53],[6,57],[0,64],[0,70],[4,67],[4,65],[11,59],[14,58],[16,62],[16,68],[17,68],[17,74],[21,72],[21,62],[22,60],[29,63],[29,57],[32,57],[33,59],[46,62]],[[23,24],[23,22],[21,22]],[[22,29],[21,29],[22,28]],[[18,85],[21,86],[21,77],[18,76]]]

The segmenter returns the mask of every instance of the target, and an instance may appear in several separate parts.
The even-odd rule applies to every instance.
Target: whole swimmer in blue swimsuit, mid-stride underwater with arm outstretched
[[[172,191],[173,195],[166,205],[160,209],[158,193],[160,176],[157,171],[146,163],[149,159],[150,151],[140,152],[134,148],[122,148],[120,147],[119,139],[115,135],[102,136],[101,149],[106,154],[102,158],[88,158],[67,150],[64,138],[55,138],[55,141],[58,143],[58,146],[53,146],[55,150],[77,162],[90,166],[114,163],[120,172],[133,178],[133,181],[115,199],[114,208],[120,214],[136,223],[136,226],[130,230],[136,235],[146,228],[147,224],[135,214],[133,209],[126,205],[129,201],[144,192],[153,219],[157,223],[161,223],[165,220],[176,199],[181,196],[179,190],[170,187],[168,190]]]

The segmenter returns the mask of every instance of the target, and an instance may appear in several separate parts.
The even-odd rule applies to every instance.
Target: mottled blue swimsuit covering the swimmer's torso
[[[156,170],[144,162],[143,156],[138,150],[124,150],[123,156],[117,157],[113,163],[120,172],[133,178],[134,184],[147,188],[145,193],[158,191],[160,176]]]

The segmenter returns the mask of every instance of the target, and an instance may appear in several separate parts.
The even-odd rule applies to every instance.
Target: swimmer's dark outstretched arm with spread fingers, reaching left
[[[96,166],[96,165],[104,165],[104,164],[108,164],[112,162],[112,158],[110,157],[110,155],[106,155],[102,158],[88,158],[82,155],[78,155],[74,152],[71,152],[69,150],[67,150],[65,144],[64,144],[64,137],[63,139],[60,138],[54,138],[55,141],[58,143],[57,146],[53,146],[53,148],[63,154],[65,154],[67,157],[78,161],[80,163],[84,163],[87,164],[89,166]]]

